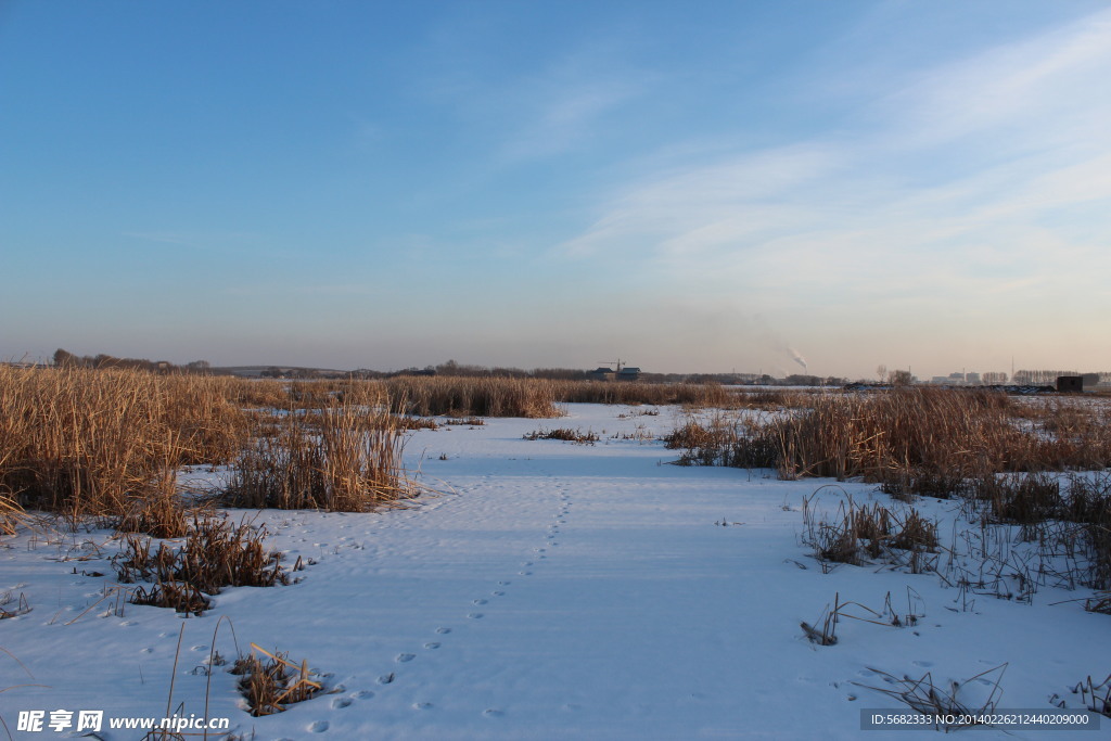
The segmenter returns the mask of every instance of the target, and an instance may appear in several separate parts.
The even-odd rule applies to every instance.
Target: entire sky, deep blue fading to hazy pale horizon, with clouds
[[[0,0],[0,357],[1111,370],[1111,4]]]

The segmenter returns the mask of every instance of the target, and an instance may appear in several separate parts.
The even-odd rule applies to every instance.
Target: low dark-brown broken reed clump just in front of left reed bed
[[[224,587],[289,583],[281,554],[263,545],[266,535],[264,528],[194,514],[180,547],[163,541],[151,552],[149,537],[129,534],[112,567],[122,583],[152,582],[134,590],[132,603],[200,614],[209,608],[208,598]]]

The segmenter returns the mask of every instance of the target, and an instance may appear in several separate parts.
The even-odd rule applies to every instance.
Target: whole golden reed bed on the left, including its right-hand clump
[[[0,533],[26,509],[187,534],[183,465],[231,465],[242,507],[366,511],[411,495],[403,428],[369,381],[0,366]]]

